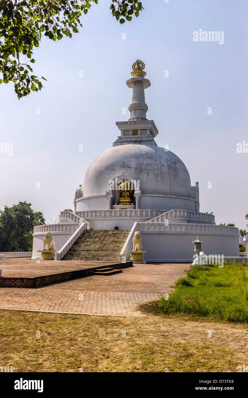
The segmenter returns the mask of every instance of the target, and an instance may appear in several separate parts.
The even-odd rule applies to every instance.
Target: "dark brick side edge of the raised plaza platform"
[[[37,277],[0,277],[0,287],[25,287],[34,288],[54,283],[70,281],[71,279],[83,278],[84,276],[92,275],[96,269],[106,268],[107,265],[100,265],[99,267],[77,269],[74,271],[60,272],[52,275],[42,275]],[[114,269],[132,267],[133,261],[126,263],[111,264],[109,267]]]

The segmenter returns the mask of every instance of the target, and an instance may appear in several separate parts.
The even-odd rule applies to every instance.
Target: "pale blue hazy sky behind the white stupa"
[[[26,200],[47,223],[73,209],[88,165],[129,117],[126,80],[139,58],[158,146],[169,145],[191,184],[199,181],[200,211],[246,228],[248,153],[236,144],[248,143],[247,0],[143,0],[140,17],[124,25],[111,0],[98,1],[72,39],[42,37],[34,57],[35,74],[48,80],[41,92],[18,101],[12,83],[0,86],[0,142],[13,142],[13,156],[0,153],[0,209]],[[223,31],[223,44],[193,41],[200,29]]]

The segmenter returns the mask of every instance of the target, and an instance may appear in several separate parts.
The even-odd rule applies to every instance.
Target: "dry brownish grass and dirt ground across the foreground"
[[[0,366],[13,372],[236,372],[248,365],[247,325],[154,315],[149,306],[141,317],[0,310]]]

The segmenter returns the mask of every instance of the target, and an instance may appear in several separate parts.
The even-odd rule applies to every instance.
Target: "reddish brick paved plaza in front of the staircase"
[[[36,276],[98,264],[90,262],[89,265],[86,261],[42,261],[38,264],[29,259],[7,259],[1,268],[2,276]],[[112,276],[93,275],[35,289],[0,288],[0,307],[73,314],[142,316],[137,310],[138,304],[171,293],[171,285],[185,275],[189,268],[190,264],[135,264]],[[79,300],[82,294],[83,300]]]

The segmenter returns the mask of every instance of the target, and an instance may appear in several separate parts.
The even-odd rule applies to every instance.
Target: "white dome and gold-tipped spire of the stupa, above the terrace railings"
[[[137,60],[131,74],[133,77],[127,80],[127,86],[133,89],[130,118],[116,123],[121,135],[112,148],[98,155],[88,167],[83,196],[78,196],[79,188],[76,191],[75,211],[113,209],[115,205],[124,209],[119,202],[119,190],[116,186],[112,189],[110,184],[116,180],[118,183],[138,181],[139,189],[132,198],[136,210],[153,210],[154,215],[171,209],[199,211],[198,183],[191,186],[182,160],[173,152],[158,147],[154,140],[158,129],[153,120],[146,118],[148,106],[144,90],[150,86],[150,81],[144,78],[144,63]],[[150,213],[147,220],[149,217]]]

